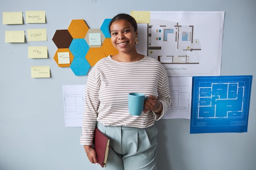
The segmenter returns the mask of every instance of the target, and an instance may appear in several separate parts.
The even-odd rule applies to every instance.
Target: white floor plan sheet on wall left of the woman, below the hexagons
[[[85,85],[63,85],[65,127],[81,127]]]

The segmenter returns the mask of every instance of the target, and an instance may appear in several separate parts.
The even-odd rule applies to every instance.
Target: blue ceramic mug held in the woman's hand
[[[144,101],[146,97],[143,93],[129,93],[128,94],[128,109],[130,115],[139,116],[144,109]]]

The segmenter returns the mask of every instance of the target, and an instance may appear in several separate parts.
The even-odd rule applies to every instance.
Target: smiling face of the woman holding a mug
[[[118,20],[110,26],[111,42],[113,46],[120,52],[129,52],[135,48],[135,38],[137,31],[130,22],[126,20]]]

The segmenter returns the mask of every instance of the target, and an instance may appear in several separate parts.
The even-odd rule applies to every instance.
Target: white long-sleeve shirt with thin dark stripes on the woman
[[[97,121],[105,126],[146,128],[162,117],[152,111],[130,115],[128,93],[156,96],[163,105],[163,115],[171,99],[162,64],[148,56],[136,62],[117,62],[108,56],[97,62],[88,75],[85,89],[81,145],[92,145]]]

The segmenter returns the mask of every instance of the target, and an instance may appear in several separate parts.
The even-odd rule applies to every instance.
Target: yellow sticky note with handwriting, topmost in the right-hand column
[[[45,23],[45,11],[26,11],[26,23]]]

